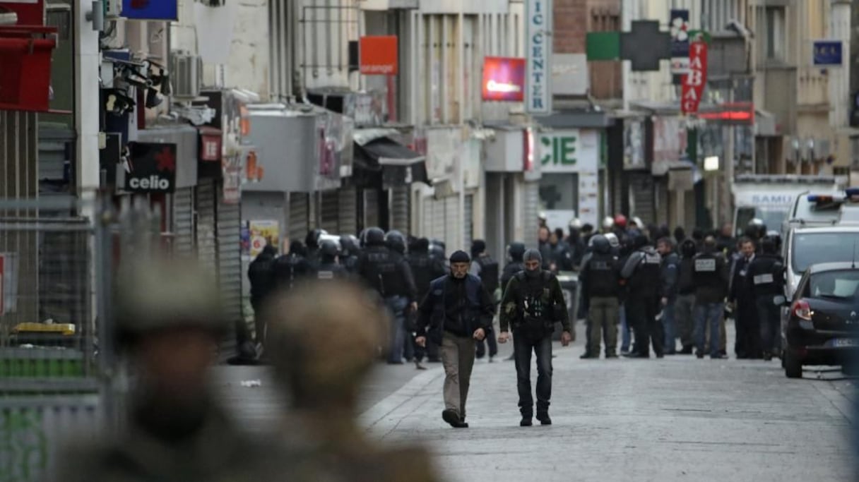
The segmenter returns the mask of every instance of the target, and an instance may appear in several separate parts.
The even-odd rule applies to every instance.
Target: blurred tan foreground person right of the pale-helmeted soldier
[[[425,450],[382,449],[357,422],[358,395],[392,322],[374,298],[334,280],[274,298],[265,313],[271,346],[277,347],[272,350],[274,375],[292,401],[283,419],[287,456],[278,461],[284,474],[295,470],[291,455],[300,453],[302,474],[311,473],[314,480],[438,480]],[[290,479],[284,475],[282,480]]]

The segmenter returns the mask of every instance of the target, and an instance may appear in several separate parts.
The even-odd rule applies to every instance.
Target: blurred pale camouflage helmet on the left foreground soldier
[[[215,278],[190,259],[145,257],[119,268],[114,283],[120,344],[166,328],[203,328],[225,334],[228,322]]]

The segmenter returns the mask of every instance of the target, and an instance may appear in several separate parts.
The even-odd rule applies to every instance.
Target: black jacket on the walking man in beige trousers
[[[466,337],[483,328],[489,335],[495,304],[477,276],[457,280],[448,274],[430,283],[417,314],[417,335],[440,344],[442,331]]]

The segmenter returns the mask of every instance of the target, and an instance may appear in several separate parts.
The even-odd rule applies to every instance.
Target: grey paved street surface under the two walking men
[[[384,443],[425,444],[451,481],[854,479],[856,386],[840,371],[807,368],[803,379],[789,380],[777,360],[581,360],[582,333],[578,340],[555,346],[554,425],[519,427],[508,361],[475,365],[468,429],[442,422],[439,365],[381,366],[362,397],[362,424]],[[509,350],[503,346],[502,355]],[[253,430],[284,407],[266,373],[216,373],[228,404]],[[245,379],[262,384],[237,385]]]

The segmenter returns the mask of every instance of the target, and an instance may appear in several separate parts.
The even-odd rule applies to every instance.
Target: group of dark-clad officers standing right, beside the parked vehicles
[[[575,230],[575,228],[573,228]],[[578,315],[588,322],[582,358],[621,354],[656,358],[693,352],[727,358],[725,318],[734,317],[737,358],[779,354],[783,298],[781,238],[752,220],[745,236],[641,226],[623,215],[606,218],[602,232],[582,226],[569,246],[582,250]],[[541,237],[542,238],[542,237]],[[573,256],[576,259],[576,256]],[[677,346],[679,339],[680,346]]]

